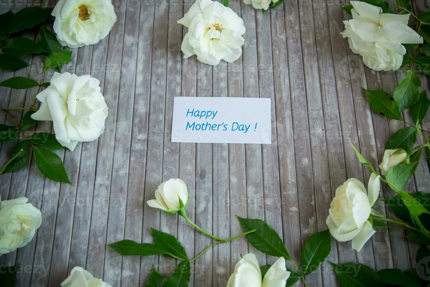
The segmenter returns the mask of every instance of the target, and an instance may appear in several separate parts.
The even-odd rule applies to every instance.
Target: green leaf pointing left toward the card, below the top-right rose
[[[378,89],[364,90],[366,91],[367,102],[375,112],[389,119],[403,120],[396,102],[387,93]]]

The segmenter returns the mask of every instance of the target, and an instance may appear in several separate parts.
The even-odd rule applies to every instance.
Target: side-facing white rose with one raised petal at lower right
[[[370,211],[379,196],[380,176],[370,176],[368,192],[358,179],[348,179],[336,189],[326,223],[337,241],[352,239],[352,248],[360,251],[375,233],[368,221]]]

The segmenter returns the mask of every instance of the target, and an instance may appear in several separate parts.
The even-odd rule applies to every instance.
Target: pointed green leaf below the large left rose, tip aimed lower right
[[[72,184],[64,169],[64,164],[57,154],[39,146],[33,147],[33,154],[37,168],[44,176],[56,182]]]

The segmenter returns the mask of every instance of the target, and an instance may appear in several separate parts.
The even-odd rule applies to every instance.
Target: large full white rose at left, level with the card
[[[107,105],[99,84],[89,75],[55,72],[51,84],[37,94],[40,108],[31,117],[52,120],[55,138],[73,151],[78,142],[91,142],[104,132]]]

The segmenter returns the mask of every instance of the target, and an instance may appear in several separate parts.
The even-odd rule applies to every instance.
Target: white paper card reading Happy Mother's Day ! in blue
[[[175,97],[172,142],[270,144],[270,99]]]

